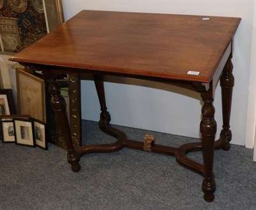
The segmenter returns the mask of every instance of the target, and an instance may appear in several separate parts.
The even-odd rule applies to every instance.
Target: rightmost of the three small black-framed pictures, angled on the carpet
[[[33,120],[33,129],[35,133],[35,144],[36,146],[47,150],[47,140],[45,138],[45,123],[42,121],[38,121],[35,118],[31,118]]]

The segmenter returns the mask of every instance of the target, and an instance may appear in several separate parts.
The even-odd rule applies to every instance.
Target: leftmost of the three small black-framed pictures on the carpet
[[[15,131],[12,120],[1,121],[2,139],[4,143],[15,142]]]

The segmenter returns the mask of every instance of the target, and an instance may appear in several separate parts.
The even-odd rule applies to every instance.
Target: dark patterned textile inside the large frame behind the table
[[[43,0],[0,0],[1,51],[19,52],[47,34]]]

